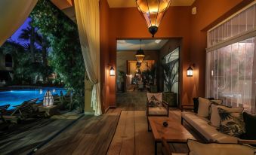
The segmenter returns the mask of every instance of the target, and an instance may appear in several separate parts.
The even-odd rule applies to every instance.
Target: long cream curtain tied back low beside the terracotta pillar
[[[88,78],[94,84],[91,107],[102,114],[100,104],[100,8],[99,0],[75,0],[76,20]]]

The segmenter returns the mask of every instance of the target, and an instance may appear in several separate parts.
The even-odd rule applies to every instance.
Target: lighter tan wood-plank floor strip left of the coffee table
[[[146,111],[122,111],[107,155],[154,154],[153,135],[147,132]]]

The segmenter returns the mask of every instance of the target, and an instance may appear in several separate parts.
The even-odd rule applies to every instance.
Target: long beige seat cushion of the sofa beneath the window
[[[182,112],[182,117],[208,141],[218,141],[220,143],[237,143],[238,141],[236,137],[218,132],[214,126],[208,124],[209,120],[205,117],[199,117],[191,112]]]

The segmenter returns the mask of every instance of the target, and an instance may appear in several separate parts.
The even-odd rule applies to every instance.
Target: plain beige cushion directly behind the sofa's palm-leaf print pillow
[[[217,128],[220,127],[220,123],[221,123],[221,118],[220,115],[217,111],[217,108],[223,108],[225,111],[228,111],[230,113],[242,113],[243,108],[228,108],[226,106],[223,105],[214,105],[211,104],[211,126],[215,126]]]

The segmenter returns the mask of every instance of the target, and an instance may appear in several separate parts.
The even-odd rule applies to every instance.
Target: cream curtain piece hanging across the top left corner
[[[0,46],[29,17],[38,0],[0,0]]]

